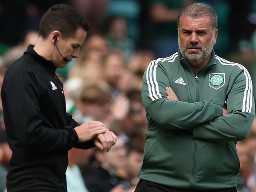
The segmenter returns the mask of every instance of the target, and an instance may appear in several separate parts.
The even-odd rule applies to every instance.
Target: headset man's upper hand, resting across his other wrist
[[[74,128],[78,135],[78,142],[86,142],[95,136],[105,133],[107,129],[102,122],[90,121]]]

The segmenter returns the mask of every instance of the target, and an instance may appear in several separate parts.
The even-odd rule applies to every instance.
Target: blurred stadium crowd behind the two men
[[[108,153],[96,149],[69,151],[69,192],[134,191],[147,131],[142,76],[150,61],[178,50],[176,18],[193,2],[209,4],[219,16],[215,53],[245,65],[255,84],[256,0],[0,1],[0,85],[9,66],[37,41],[42,13],[53,4],[76,7],[91,25],[80,57],[56,72],[64,85],[67,112],[80,123],[102,121],[118,140]],[[2,105],[0,128],[2,192],[11,157]],[[256,120],[249,137],[238,142],[237,153],[241,164],[237,191],[256,192]]]

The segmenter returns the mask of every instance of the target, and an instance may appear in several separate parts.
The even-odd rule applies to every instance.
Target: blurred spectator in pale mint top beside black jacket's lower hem
[[[69,164],[66,171],[68,192],[89,192],[83,182],[81,170],[78,165],[88,162],[92,153],[93,149],[80,150],[72,148],[69,150]]]

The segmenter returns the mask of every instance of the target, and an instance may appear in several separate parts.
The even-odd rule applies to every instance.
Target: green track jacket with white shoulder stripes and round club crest
[[[166,87],[179,101],[167,99]],[[142,99],[148,131],[140,179],[184,189],[236,186],[236,143],[249,134],[255,111],[244,66],[212,51],[208,65],[195,73],[178,51],[150,62]]]

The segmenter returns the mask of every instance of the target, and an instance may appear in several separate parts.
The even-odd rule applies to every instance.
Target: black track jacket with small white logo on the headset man
[[[4,77],[4,122],[13,151],[8,192],[67,191],[68,151],[94,146],[92,140],[78,144],[74,127],[79,124],[66,113],[63,85],[55,70],[30,45]]]

